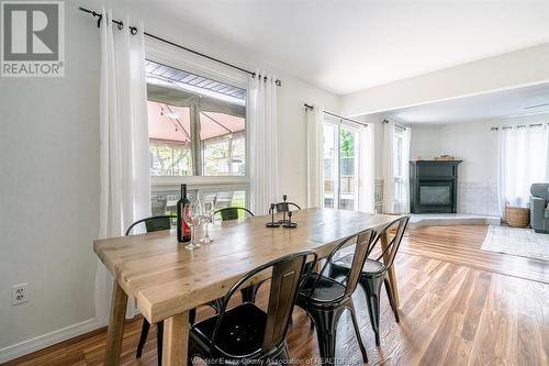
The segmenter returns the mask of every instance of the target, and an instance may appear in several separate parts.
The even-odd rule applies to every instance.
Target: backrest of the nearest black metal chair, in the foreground
[[[298,290],[304,278],[310,275],[309,273],[306,276],[303,276],[307,256],[314,257],[313,266],[310,267],[313,268],[317,260],[316,254],[314,251],[303,251],[266,263],[250,270],[233,285],[223,298],[223,304],[212,334],[210,352],[215,347],[215,339],[219,330],[223,326],[223,317],[233,295],[251,277],[269,269],[272,269],[272,277],[267,308],[267,322],[261,350],[257,350],[256,352],[260,351],[261,354],[269,354],[269,352],[278,348],[285,339],[293,306],[298,298]]]

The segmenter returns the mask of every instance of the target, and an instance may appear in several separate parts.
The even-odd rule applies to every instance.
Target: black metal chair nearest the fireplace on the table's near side
[[[406,230],[406,225],[408,223],[410,217],[405,215],[399,218],[386,225],[377,236],[376,242],[371,246],[370,252],[376,247],[376,245],[381,242],[381,237],[396,229],[395,235],[389,242],[388,246],[384,251],[381,251],[381,254],[376,259],[367,258],[365,265],[362,267],[362,271],[360,274],[359,284],[362,287],[366,295],[366,302],[368,303],[368,313],[370,315],[370,323],[372,324],[373,333],[376,334],[376,345],[380,345],[380,334],[379,334],[379,319],[380,319],[380,292],[381,285],[385,285],[386,295],[389,298],[389,303],[394,313],[394,319],[399,323],[399,309],[396,309],[396,304],[394,302],[394,293],[391,288],[391,282],[386,277],[386,271],[393,265],[394,257],[396,256],[396,252],[402,242],[402,237],[404,235],[404,231]],[[386,263],[383,263],[381,259],[386,256]],[[329,268],[329,277],[338,278],[341,276],[347,276],[349,270],[351,270],[351,256],[347,255],[337,260],[335,260]]]

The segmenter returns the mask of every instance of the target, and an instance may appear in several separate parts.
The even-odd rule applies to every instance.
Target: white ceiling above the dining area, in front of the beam
[[[134,0],[132,7],[338,95],[549,42],[548,0]]]

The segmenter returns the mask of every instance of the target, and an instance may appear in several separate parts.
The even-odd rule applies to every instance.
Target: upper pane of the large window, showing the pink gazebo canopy
[[[150,174],[245,176],[246,90],[146,63]]]

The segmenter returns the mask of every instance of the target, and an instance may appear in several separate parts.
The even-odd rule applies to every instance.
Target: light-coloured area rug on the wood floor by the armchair
[[[549,234],[538,234],[531,229],[490,225],[481,248],[549,260]]]

